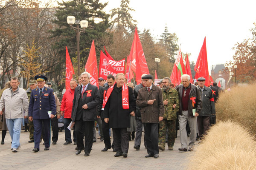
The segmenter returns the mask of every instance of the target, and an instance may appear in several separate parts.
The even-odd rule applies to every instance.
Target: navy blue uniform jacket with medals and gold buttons
[[[44,87],[40,95],[39,88],[31,91],[29,101],[29,116],[33,119],[49,119],[48,111],[56,115],[56,103],[52,88]]]

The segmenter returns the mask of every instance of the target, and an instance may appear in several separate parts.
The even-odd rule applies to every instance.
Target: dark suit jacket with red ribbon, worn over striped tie
[[[72,107],[72,119],[73,122],[76,120],[76,113],[78,110],[78,102],[81,97],[81,88],[82,85],[79,85],[75,89],[74,99],[73,99],[73,107]],[[90,91],[91,90],[91,91]],[[87,96],[88,91],[90,91],[90,95]],[[90,83],[87,86],[87,89],[84,91],[82,105],[87,104],[88,108],[83,109],[82,118],[83,121],[95,121],[96,120],[96,111],[97,105],[100,103],[99,89],[95,85],[91,85]]]

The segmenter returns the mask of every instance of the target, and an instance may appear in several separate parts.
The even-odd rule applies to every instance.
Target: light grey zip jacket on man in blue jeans
[[[29,99],[23,88],[17,88],[12,94],[12,88],[3,91],[0,99],[0,111],[5,109],[6,119],[17,119],[29,116]]]

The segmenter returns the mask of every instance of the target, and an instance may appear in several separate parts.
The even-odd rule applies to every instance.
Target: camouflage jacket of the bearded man
[[[168,104],[164,105],[164,114],[163,119],[167,120],[175,120],[177,117],[177,112],[180,108],[180,101],[179,101],[179,94],[177,90],[169,88],[169,91],[164,91],[162,89],[163,93],[163,101],[168,99]],[[176,108],[173,108],[173,105],[176,104]]]

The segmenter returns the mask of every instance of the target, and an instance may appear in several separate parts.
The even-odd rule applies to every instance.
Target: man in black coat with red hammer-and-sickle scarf
[[[129,139],[127,127],[130,127],[130,114],[134,116],[136,100],[131,87],[125,85],[125,75],[116,74],[116,83],[108,88],[103,101],[103,118],[113,129],[115,157],[127,157]]]

